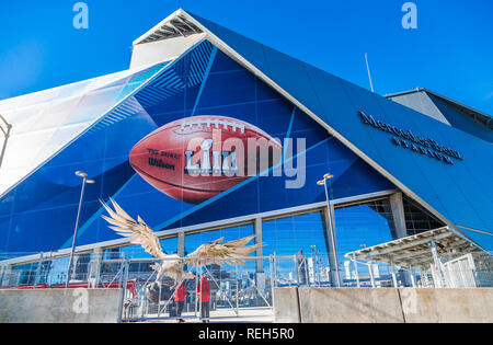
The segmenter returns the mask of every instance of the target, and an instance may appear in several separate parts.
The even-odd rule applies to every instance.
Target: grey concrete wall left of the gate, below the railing
[[[118,289],[0,290],[0,323],[116,323]]]

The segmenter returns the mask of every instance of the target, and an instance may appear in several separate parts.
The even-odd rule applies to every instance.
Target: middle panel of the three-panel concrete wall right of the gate
[[[403,323],[397,289],[299,288],[303,323]]]

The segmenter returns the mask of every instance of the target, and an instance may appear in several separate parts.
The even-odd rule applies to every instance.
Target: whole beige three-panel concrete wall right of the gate
[[[276,288],[278,323],[491,323],[493,289]]]

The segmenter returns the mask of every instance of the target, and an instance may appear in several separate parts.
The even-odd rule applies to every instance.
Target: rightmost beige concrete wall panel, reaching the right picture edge
[[[493,289],[400,289],[408,323],[492,323]]]

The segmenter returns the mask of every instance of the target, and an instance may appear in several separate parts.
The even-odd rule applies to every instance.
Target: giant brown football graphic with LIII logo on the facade
[[[245,122],[195,116],[168,124],[138,142],[130,164],[153,187],[198,205],[276,165],[282,145]]]

